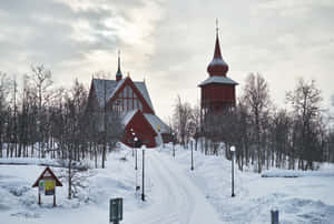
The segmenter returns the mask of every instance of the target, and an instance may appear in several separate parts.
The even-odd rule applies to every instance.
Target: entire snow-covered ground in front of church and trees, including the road
[[[126,160],[122,160],[126,157]],[[137,182],[141,185],[141,153],[138,151]],[[334,166],[322,175],[303,174],[296,179],[261,177],[235,171],[235,197],[230,197],[230,161],[205,156],[171,145],[146,150],[145,192],[136,194],[135,161],[131,150],[109,154],[106,169],[82,172],[85,189],[67,200],[67,184],[57,187],[57,204],[42,196],[37,204],[37,189],[31,185],[45,169],[29,165],[0,165],[0,223],[109,223],[109,198],[124,197],[124,224],[205,224],[269,223],[271,210],[279,211],[281,223],[333,223]],[[3,162],[3,161],[2,161]],[[51,167],[56,174],[61,167]],[[274,171],[273,171],[274,172]],[[279,171],[275,171],[279,173]],[[272,173],[268,175],[274,175]],[[283,172],[284,173],[284,172]]]

